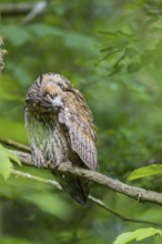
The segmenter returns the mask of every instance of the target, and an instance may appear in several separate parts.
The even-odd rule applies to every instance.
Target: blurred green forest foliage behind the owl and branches
[[[162,1],[49,0],[29,22],[29,13],[4,12],[8,2],[0,2],[0,30],[8,50],[0,77],[0,138],[28,144],[23,119],[28,88],[43,72],[63,74],[93,112],[100,172],[161,192],[161,175],[126,179],[136,167],[162,162]],[[17,169],[52,179],[50,172]],[[162,222],[158,205],[139,204],[98,185],[91,194],[123,215]],[[122,222],[90,201],[80,206],[51,186],[0,176],[2,244],[111,244],[119,234],[146,226]]]

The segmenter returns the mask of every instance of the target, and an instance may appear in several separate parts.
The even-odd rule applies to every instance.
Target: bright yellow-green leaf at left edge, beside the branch
[[[12,164],[10,162],[7,150],[0,145],[0,174],[7,180],[12,171]]]

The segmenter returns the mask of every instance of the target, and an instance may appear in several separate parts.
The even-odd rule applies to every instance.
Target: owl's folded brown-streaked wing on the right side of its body
[[[64,104],[58,114],[59,122],[67,129],[72,150],[90,170],[95,171],[98,169],[95,130],[91,111],[75,89],[67,92]]]

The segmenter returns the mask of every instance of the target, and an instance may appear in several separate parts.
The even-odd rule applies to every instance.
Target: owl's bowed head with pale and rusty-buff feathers
[[[57,73],[40,75],[28,91],[26,103],[39,112],[48,112],[63,105],[65,91],[72,85],[68,79]]]

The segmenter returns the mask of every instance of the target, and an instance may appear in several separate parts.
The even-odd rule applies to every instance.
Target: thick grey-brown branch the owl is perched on
[[[23,164],[34,166],[31,163],[31,156],[29,153],[19,152],[19,151],[12,151],[12,152],[20,159],[20,161]],[[49,166],[45,166],[43,169],[49,169]],[[50,167],[50,169],[54,169],[54,167]],[[98,172],[92,172],[89,170],[70,166],[68,163],[60,164],[57,167],[57,170],[60,171],[61,173],[69,173],[71,175],[77,175],[77,176],[88,179],[89,181],[103,185],[108,187],[109,190],[112,190],[121,194],[124,194],[126,196],[130,196],[132,199],[135,199],[138,202],[152,202],[152,203],[162,205],[161,193],[135,187],[135,186],[130,186],[128,184],[120,182],[119,180],[108,177]]]

